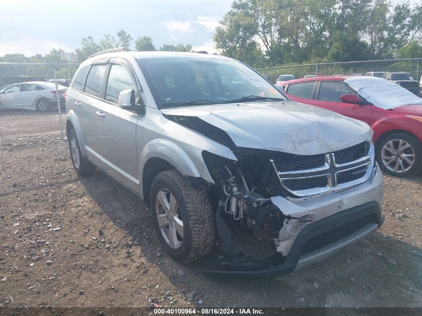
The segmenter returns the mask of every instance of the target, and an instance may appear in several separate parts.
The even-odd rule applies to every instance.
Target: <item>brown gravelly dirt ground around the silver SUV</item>
[[[57,127],[0,113],[0,307],[422,307],[421,176],[385,176],[385,224],[326,262],[212,281],[165,254],[142,201],[78,177]]]

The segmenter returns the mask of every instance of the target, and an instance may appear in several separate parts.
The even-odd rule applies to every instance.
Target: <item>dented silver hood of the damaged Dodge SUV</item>
[[[224,130],[236,146],[315,155],[372,137],[368,124],[293,101],[201,105],[161,110],[196,116]]]

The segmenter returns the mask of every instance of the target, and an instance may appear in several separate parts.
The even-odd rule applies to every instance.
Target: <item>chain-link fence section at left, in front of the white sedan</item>
[[[0,145],[11,138],[62,137],[63,95],[78,66],[0,62]]]

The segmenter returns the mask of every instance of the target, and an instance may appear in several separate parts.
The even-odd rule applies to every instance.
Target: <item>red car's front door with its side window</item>
[[[357,95],[357,92],[343,81],[320,81],[313,105],[323,107],[327,110],[356,118],[370,124],[372,106],[343,103],[341,100],[341,96],[343,94]]]

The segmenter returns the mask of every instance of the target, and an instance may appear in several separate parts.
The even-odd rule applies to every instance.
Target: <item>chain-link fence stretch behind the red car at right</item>
[[[404,88],[421,94],[422,58],[386,59],[349,62],[329,62],[303,65],[289,65],[257,69],[267,75],[272,83],[288,81],[305,76],[331,75],[375,75],[400,82]]]

